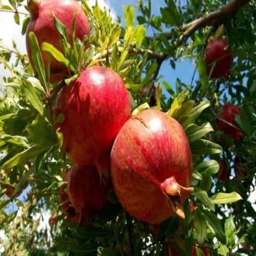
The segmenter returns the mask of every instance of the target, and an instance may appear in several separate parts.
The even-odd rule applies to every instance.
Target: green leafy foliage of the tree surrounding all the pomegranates
[[[35,74],[27,55],[20,54],[15,44],[14,50],[0,44],[0,63],[11,71],[10,77],[3,78],[5,91],[0,102],[0,227],[7,237],[0,247],[3,255],[169,255],[169,247],[180,255],[192,255],[193,245],[206,247],[210,255],[255,255],[256,212],[248,201],[256,171],[255,2],[247,1],[235,12],[230,10],[232,15],[212,19],[207,25],[199,23],[189,33],[197,19],[227,4],[225,0],[203,2],[165,0],[161,15],[156,16],[153,3],[140,0],[137,17],[133,6],[123,7],[121,26],[107,10],[98,4],[91,8],[83,0],[91,25],[88,49],[84,51],[87,39],[70,43],[57,18],[55,25],[62,35],[65,54],[43,44],[43,50],[71,70],[59,84],[49,82],[33,33],[29,40]],[[13,12],[14,21],[19,23],[22,5],[25,1],[10,0],[9,5],[0,4],[0,11]],[[28,22],[25,15],[22,34]],[[207,41],[214,37],[227,38],[235,55],[230,75],[218,80],[207,77],[203,61]],[[11,55],[15,58],[13,65]],[[191,84],[185,84],[179,77],[175,88],[159,79],[164,61],[175,70],[182,58],[196,63],[199,79],[191,77]],[[157,87],[154,108],[177,119],[185,129],[194,165],[194,193],[184,204],[185,220],[174,215],[159,227],[141,222],[124,211],[114,192],[109,195],[111,204],[92,226],[77,226],[63,215],[58,193],[72,163],[61,147],[61,133],[54,129],[52,106],[65,83],[97,63],[114,69],[124,79],[133,111],[149,107],[145,103]],[[143,89],[148,89],[146,94],[141,93]],[[217,130],[219,107],[225,102],[241,109],[241,115],[236,116],[243,132],[241,141],[233,141]],[[243,175],[234,173],[235,157],[242,163]],[[227,181],[215,175],[221,159],[227,159],[233,170]],[[15,187],[10,198],[5,195],[8,184]],[[26,185],[29,192],[23,199],[17,198]],[[10,209],[10,202],[15,210]],[[189,202],[195,207],[192,212]],[[58,213],[58,223],[39,229],[39,219],[47,211]]]

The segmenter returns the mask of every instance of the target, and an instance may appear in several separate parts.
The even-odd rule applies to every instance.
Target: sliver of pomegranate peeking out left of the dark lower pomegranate
[[[66,172],[63,177],[63,181],[68,181],[70,170]],[[74,206],[69,201],[67,194],[67,183],[63,184],[59,189],[59,202],[63,213],[67,216],[67,219],[75,223],[81,222],[81,214],[77,213]]]

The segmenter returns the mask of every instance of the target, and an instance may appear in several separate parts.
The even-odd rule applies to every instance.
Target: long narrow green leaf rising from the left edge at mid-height
[[[31,148],[28,148],[21,153],[13,156],[11,159],[6,161],[2,169],[5,170],[6,173],[9,173],[14,166],[23,165],[28,162],[31,158],[43,153],[44,151],[51,148],[53,145],[35,145]]]

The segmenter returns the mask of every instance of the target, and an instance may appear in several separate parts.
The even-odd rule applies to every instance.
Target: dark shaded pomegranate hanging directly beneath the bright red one
[[[89,225],[106,208],[109,185],[101,179],[94,165],[74,164],[68,178],[68,196],[77,212]]]

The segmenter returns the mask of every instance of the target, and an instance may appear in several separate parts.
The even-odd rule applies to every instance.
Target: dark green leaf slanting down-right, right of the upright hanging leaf
[[[221,221],[217,218],[215,214],[207,210],[202,210],[204,214],[207,226],[212,230],[212,233],[216,238],[222,243],[226,244],[226,236],[223,231]]]

